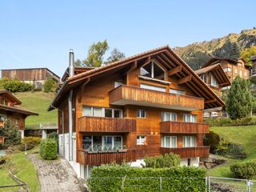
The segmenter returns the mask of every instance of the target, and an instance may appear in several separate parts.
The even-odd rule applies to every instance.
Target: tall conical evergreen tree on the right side
[[[236,77],[226,97],[226,111],[231,119],[245,118],[252,110],[250,82]]]

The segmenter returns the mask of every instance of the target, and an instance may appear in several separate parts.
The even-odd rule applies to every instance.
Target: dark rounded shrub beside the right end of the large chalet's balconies
[[[210,153],[215,154],[217,150],[217,146],[221,139],[219,135],[214,133],[214,131],[210,131],[209,134],[205,134],[203,138],[203,144],[205,146],[210,146]]]

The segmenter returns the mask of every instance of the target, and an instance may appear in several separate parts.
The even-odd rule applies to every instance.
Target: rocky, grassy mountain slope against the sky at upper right
[[[198,70],[211,56],[232,58],[250,46],[256,46],[256,28],[242,30],[240,34],[228,34],[222,38],[214,38],[205,42],[194,42],[184,47],[174,47],[189,66]]]

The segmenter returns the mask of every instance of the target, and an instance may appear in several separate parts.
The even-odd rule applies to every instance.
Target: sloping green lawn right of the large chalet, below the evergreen
[[[241,161],[256,159],[256,126],[215,126],[210,130],[219,134],[221,138],[242,144],[248,157]],[[209,174],[218,177],[234,177],[230,172],[230,164],[234,161],[230,159],[229,163],[210,170]]]

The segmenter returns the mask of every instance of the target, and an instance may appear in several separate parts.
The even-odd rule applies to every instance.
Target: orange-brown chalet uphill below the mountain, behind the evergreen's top
[[[230,82],[233,82],[234,78],[237,76],[245,79],[250,78],[250,66],[246,66],[246,61],[243,58],[239,58],[238,61],[234,61],[230,58],[210,58],[202,67],[204,68],[215,64],[222,66]]]

